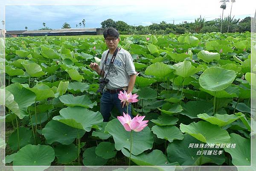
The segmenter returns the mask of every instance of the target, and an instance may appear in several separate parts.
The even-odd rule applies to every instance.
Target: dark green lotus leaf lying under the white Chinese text
[[[184,135],[183,140],[174,140],[167,147],[167,156],[170,162],[178,162],[180,165],[203,165],[205,163],[215,163],[221,165],[225,162],[224,153],[221,155],[197,155],[201,148],[188,148],[189,144],[201,144],[189,134]],[[220,150],[219,148],[203,148],[204,151]]]

